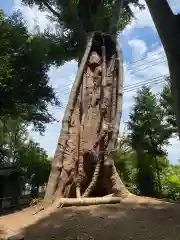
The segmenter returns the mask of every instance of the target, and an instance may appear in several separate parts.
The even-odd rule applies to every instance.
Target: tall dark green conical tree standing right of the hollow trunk
[[[143,87],[135,97],[128,127],[133,149],[137,152],[138,183],[142,195],[155,196],[156,179],[161,191],[160,166],[157,157],[166,155],[164,145],[168,144],[163,112],[155,95]],[[156,175],[154,174],[156,169]]]

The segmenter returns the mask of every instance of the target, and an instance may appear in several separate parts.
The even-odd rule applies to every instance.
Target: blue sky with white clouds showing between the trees
[[[144,4],[144,0],[141,0],[141,3]],[[169,4],[174,13],[180,12],[179,0],[169,0]],[[20,0],[1,0],[0,8],[4,9],[7,14],[10,14],[14,9],[20,9],[27,22],[29,31],[33,31],[35,22],[39,23],[41,31],[47,26],[50,26],[52,31],[54,29],[52,23],[50,24],[46,18],[47,13],[39,12],[36,7],[30,9],[27,6],[22,6]],[[135,13],[136,20],[133,20],[131,25],[127,26],[120,34],[120,44],[124,56],[125,85],[168,74],[166,57],[147,8],[142,12],[133,7],[132,10]],[[49,155],[53,155],[56,149],[61,120],[76,71],[77,65],[74,61],[60,68],[52,67],[50,69],[50,81],[56,88],[59,99],[62,102],[61,108],[50,108],[50,111],[59,122],[47,125],[47,130],[43,137],[38,133],[30,131],[30,136],[40,142]],[[152,89],[155,93],[158,93],[162,86],[163,83],[156,84],[152,86]],[[125,123],[128,120],[128,115],[133,105],[133,96],[136,91],[137,89],[124,94],[123,115],[120,126],[121,134],[126,131]],[[167,150],[169,159],[173,164],[178,163],[178,159],[180,159],[180,151],[178,149],[180,149],[178,140],[175,138],[171,139]]]

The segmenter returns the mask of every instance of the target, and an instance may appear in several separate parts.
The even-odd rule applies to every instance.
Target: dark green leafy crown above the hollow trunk
[[[49,18],[57,24],[55,34],[44,34],[51,40],[53,49],[61,53],[65,60],[78,59],[84,51],[87,37],[91,32],[103,32],[111,35],[124,29],[134,17],[129,7],[133,4],[140,9],[139,0],[22,0],[23,3],[40,10],[47,10]],[[57,55],[56,55],[57,56]],[[58,59],[57,57],[55,57]],[[57,60],[58,63],[58,60]]]

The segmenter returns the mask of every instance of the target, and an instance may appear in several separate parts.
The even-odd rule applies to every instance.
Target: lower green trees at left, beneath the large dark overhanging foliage
[[[3,119],[1,125],[2,165],[13,165],[19,170],[19,188],[31,186],[32,196],[38,195],[39,186],[47,183],[51,159],[39,143],[29,139],[27,126],[22,119]]]

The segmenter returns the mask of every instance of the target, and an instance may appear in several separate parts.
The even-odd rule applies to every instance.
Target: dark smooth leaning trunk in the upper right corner
[[[180,16],[173,14],[167,0],[146,0],[146,3],[167,56],[180,138]]]

